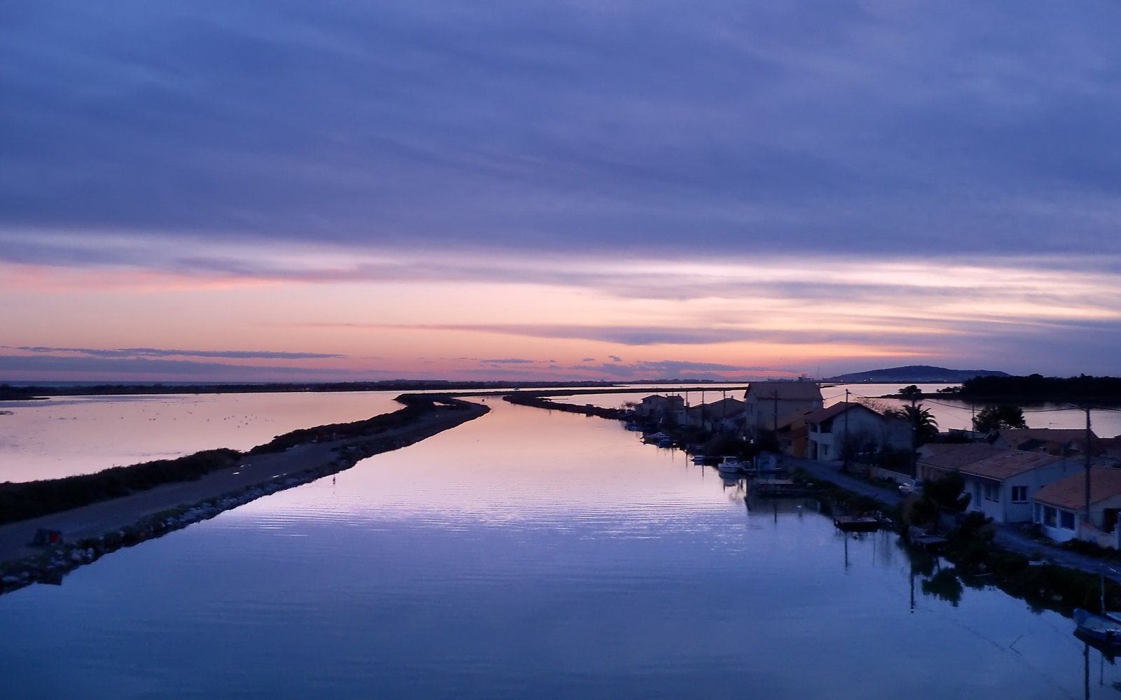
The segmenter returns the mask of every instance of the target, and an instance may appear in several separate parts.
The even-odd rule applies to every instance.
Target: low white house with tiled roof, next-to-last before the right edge
[[[1029,522],[1031,500],[1044,486],[1081,467],[1077,460],[991,445],[938,445],[920,456],[918,474],[933,479],[957,472],[970,494],[970,511],[1000,523]]]

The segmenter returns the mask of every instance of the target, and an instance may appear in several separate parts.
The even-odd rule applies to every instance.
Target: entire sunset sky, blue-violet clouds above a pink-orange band
[[[0,26],[0,381],[1121,374],[1113,0]]]

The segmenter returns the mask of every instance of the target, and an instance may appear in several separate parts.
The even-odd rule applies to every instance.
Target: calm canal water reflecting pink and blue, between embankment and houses
[[[925,592],[934,571],[891,534],[844,536],[812,502],[749,508],[612,421],[489,403],[0,597],[4,697],[1050,699],[1121,682],[1056,613]]]

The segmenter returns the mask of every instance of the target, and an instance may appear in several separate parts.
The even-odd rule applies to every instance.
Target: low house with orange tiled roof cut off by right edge
[[[1121,513],[1121,469],[1094,465],[1090,468],[1090,523],[1086,511],[1086,469],[1048,484],[1035,496],[1031,521],[1056,542],[1075,538],[1102,547],[1118,547],[1118,514]],[[1080,528],[1078,524],[1082,523]]]

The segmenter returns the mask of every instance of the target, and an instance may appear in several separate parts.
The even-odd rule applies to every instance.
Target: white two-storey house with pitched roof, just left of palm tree
[[[844,459],[883,448],[909,449],[906,421],[882,416],[862,403],[841,402],[803,417],[808,428],[806,457],[819,461]]]

